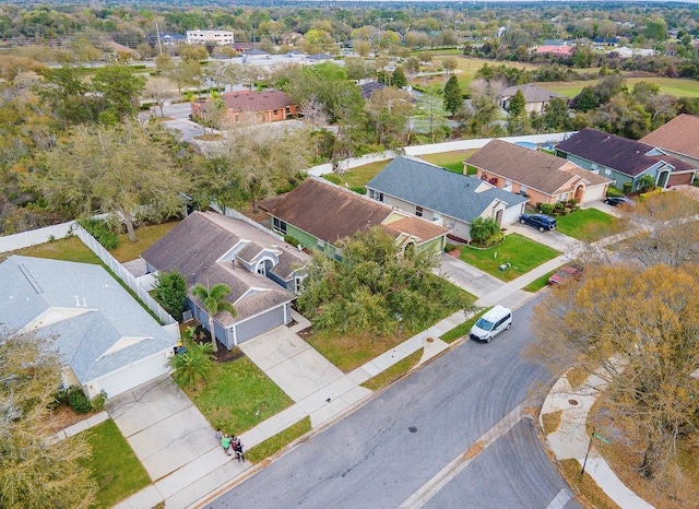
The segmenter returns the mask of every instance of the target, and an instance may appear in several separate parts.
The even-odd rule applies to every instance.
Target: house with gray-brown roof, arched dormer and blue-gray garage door
[[[150,272],[178,271],[188,285],[186,306],[203,325],[209,315],[191,294],[194,284],[230,287],[235,306],[214,316],[216,339],[226,347],[292,321],[310,257],[261,226],[216,212],[194,212],[142,254]]]

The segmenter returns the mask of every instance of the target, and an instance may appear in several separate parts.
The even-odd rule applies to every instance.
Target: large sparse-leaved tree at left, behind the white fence
[[[49,206],[80,215],[118,212],[137,241],[133,217],[169,217],[182,209],[189,188],[158,126],[137,122],[104,128],[80,126],[43,154],[43,167],[22,177]]]

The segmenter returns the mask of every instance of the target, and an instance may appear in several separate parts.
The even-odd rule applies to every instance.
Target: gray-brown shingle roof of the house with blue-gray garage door
[[[188,215],[146,249],[142,257],[158,271],[179,271],[187,279],[189,288],[196,283],[228,285],[230,293],[226,300],[236,306],[238,317],[233,320],[229,313],[216,316],[222,324],[228,325],[295,298],[294,294],[269,277],[253,274],[236,264],[237,257],[244,261],[254,261],[265,249],[276,252],[280,263],[270,272],[282,280],[287,280],[294,268],[305,265],[310,259],[308,254],[245,221],[215,212],[193,212]],[[197,300],[191,294],[190,298]]]

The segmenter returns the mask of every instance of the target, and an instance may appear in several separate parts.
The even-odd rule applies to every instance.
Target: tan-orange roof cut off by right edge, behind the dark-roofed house
[[[639,141],[699,168],[699,117],[678,115]]]

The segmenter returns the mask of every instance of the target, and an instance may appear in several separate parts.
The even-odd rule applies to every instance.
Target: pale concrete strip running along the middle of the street
[[[524,417],[524,409],[528,401],[524,401],[510,411],[495,426],[484,433],[481,438],[469,447],[462,454],[459,454],[450,461],[442,470],[437,472],[433,478],[427,481],[413,495],[407,497],[400,509],[418,509],[423,507],[430,498],[439,493],[441,488],[447,486],[459,473],[471,464],[473,460],[478,458],[495,440],[508,433],[517,423]]]

